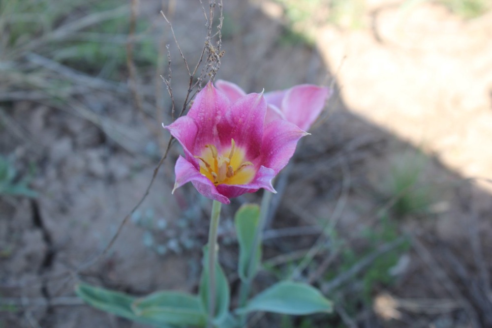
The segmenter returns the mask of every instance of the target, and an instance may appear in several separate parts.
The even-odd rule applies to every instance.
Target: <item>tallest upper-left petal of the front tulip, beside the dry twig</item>
[[[208,144],[218,144],[216,126],[222,116],[228,112],[230,104],[227,96],[222,91],[215,89],[211,82],[198,92],[186,115],[194,119],[198,127],[194,149],[190,149],[191,152],[200,151]]]

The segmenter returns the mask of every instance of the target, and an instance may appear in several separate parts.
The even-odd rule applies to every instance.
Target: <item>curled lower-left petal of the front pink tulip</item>
[[[174,172],[176,174],[176,182],[174,184],[173,192],[185,183],[191,181],[196,190],[198,190],[198,192],[203,196],[214,199],[223,204],[229,204],[231,202],[226,196],[221,195],[217,191],[217,188],[212,181],[202,175],[192,163],[184,159],[182,156],[178,157],[176,166],[174,167]]]

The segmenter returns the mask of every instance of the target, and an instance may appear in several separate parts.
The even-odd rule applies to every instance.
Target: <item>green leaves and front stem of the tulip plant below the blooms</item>
[[[284,280],[247,301],[241,298],[240,307],[230,312],[229,284],[216,258],[211,260],[209,255],[209,246],[216,249],[214,240],[219,210],[220,203],[214,201],[210,240],[204,247],[204,269],[198,295],[159,291],[136,298],[88,284],[79,284],[76,288],[77,295],[100,310],[160,328],[206,327],[207,325],[218,328],[243,327],[242,318],[256,311],[290,315],[331,311],[331,302],[314,287]],[[261,264],[261,246],[255,238],[259,220],[260,208],[257,205],[244,205],[235,215],[240,247],[238,274],[245,284],[250,283]],[[255,244],[257,247],[254,246]],[[214,265],[210,266],[209,261]],[[215,278],[211,279],[211,276]],[[247,297],[247,291],[243,295]],[[208,320],[211,308],[214,309],[212,325]]]

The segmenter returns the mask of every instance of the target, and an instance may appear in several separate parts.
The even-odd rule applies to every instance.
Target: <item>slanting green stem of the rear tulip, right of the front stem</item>
[[[268,209],[270,208],[272,197],[273,193],[267,190],[263,191],[263,197],[260,205],[260,219],[258,220],[258,225],[256,226],[256,231],[254,233],[253,250],[251,252],[251,257],[249,258],[247,277],[246,281],[241,282],[241,287],[239,290],[239,307],[244,307],[246,305],[246,300],[251,290],[251,282],[254,278],[253,266],[257,256],[256,252],[258,252],[261,240],[263,239],[263,229],[265,229],[265,224],[267,222]],[[246,327],[246,314],[241,315],[241,327]]]

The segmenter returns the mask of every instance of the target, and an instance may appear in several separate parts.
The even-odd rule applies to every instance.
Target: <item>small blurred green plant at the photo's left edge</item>
[[[13,163],[0,155],[0,195],[36,197],[37,193],[29,188],[30,177],[20,178]]]

